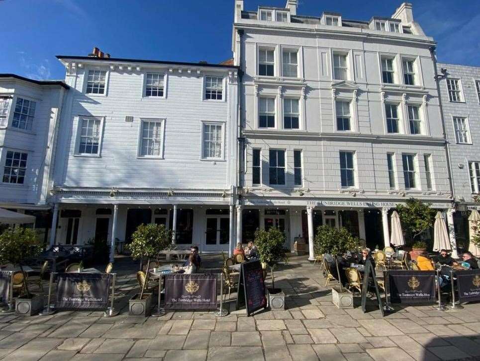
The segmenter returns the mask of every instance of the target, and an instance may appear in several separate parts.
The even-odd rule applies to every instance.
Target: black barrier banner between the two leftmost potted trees
[[[106,309],[110,274],[59,273],[57,284],[57,309]]]

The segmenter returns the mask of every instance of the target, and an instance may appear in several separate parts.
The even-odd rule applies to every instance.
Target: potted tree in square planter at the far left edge
[[[0,234],[0,264],[11,263],[23,272],[22,263],[38,256],[42,246],[37,233],[30,228],[7,228]],[[33,315],[43,309],[43,293],[30,293],[28,284],[23,278],[24,294],[20,294],[15,302],[16,313]]]

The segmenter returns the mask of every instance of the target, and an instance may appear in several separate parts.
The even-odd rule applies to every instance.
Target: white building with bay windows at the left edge
[[[56,135],[65,94],[63,81],[0,74],[0,208],[35,216],[45,240]]]

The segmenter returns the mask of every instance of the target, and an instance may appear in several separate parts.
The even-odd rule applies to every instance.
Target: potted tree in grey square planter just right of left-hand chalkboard
[[[255,231],[255,245],[257,246],[262,268],[266,269],[269,267],[272,275],[272,288],[267,289],[269,306],[276,309],[285,309],[285,293],[282,289],[275,288],[274,276],[275,267],[279,262],[286,260],[285,233],[275,227],[270,228],[268,231],[257,229]],[[273,298],[276,301],[272,305]]]

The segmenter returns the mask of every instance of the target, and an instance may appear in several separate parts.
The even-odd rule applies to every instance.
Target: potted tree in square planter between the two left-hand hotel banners
[[[163,224],[140,224],[132,234],[132,241],[126,247],[131,253],[133,260],[148,259],[147,272],[150,267],[150,259],[159,258],[160,251],[167,249],[172,240],[172,232]],[[140,266],[140,269],[142,267]],[[130,298],[128,312],[133,316],[148,316],[152,303],[152,293],[145,293],[147,282],[143,282],[140,293]]]

